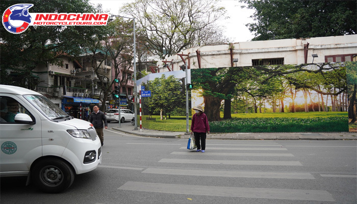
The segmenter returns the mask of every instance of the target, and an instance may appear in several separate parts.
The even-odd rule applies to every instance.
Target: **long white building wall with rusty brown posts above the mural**
[[[313,58],[312,54],[318,57]],[[352,61],[355,55],[357,35],[250,41],[193,47],[159,61],[156,71],[180,70],[180,66],[184,64],[183,59],[188,62],[189,68],[196,69],[344,62]],[[164,66],[165,64],[168,66]]]

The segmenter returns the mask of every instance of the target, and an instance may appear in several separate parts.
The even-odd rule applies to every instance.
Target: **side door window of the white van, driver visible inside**
[[[16,123],[15,115],[18,113],[28,114],[33,120],[35,119],[16,99],[0,96],[0,123]]]

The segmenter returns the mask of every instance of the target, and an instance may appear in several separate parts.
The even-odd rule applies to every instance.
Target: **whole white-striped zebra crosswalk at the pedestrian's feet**
[[[166,158],[158,159],[160,168],[146,168],[141,173],[144,174],[162,174],[170,176],[204,176],[205,179],[225,177],[236,179],[265,179],[265,184],[271,182],[285,181],[313,181],[316,178],[309,172],[284,172],[281,169],[272,171],[271,168],[265,169],[266,166],[282,166],[286,168],[301,167],[303,164],[300,161],[295,161],[293,154],[288,152],[288,149],[275,142],[259,142],[259,141],[235,141],[222,142],[217,141],[208,143],[206,152],[195,152],[188,150],[185,146],[177,146]],[[248,159],[247,159],[248,158]],[[263,158],[263,159],[262,159]],[[167,167],[165,167],[165,164]],[[180,168],[172,164],[180,164]],[[194,168],[193,164],[196,164]],[[163,166],[164,165],[164,166]],[[203,169],[199,165],[207,166],[227,166],[228,170],[220,168]],[[231,168],[236,165],[244,165],[244,169]],[[253,167],[259,166],[257,168]],[[282,169],[284,169],[282,168]],[[248,169],[248,170],[247,170]],[[325,175],[328,176],[328,175]],[[237,182],[238,183],[238,182]],[[298,203],[299,200],[308,201],[335,201],[334,197],[326,190],[302,189],[301,185],[298,189],[276,188],[269,185],[257,185],[254,187],[245,188],[242,186],[222,186],[215,185],[193,185],[193,184],[174,184],[157,182],[138,182],[129,181],[120,186],[119,190],[127,191],[143,191],[164,194],[187,194],[191,196],[223,196],[223,197],[240,197],[254,199],[286,199],[294,200]]]

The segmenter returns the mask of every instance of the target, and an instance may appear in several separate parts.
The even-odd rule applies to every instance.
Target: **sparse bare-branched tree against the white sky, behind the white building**
[[[123,11],[137,20],[145,46],[162,59],[189,47],[226,41],[221,19],[225,9],[217,0],[136,0]]]

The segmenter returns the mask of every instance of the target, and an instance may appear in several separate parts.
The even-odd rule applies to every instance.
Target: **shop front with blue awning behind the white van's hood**
[[[98,104],[98,99],[64,96],[62,110],[75,118],[88,120],[93,106]]]

